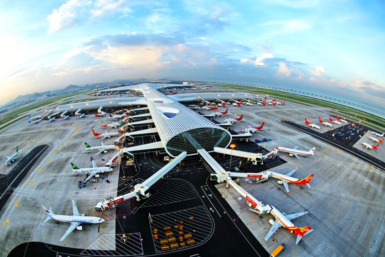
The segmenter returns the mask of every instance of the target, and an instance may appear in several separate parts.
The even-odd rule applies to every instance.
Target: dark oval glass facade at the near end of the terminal
[[[214,147],[225,148],[231,141],[230,134],[217,127],[199,127],[173,136],[166,144],[168,153],[177,156],[181,152],[187,155],[197,154],[198,149],[205,149],[208,152]]]

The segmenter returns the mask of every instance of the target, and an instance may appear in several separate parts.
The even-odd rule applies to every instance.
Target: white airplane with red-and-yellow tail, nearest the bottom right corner
[[[269,240],[269,238],[277,232],[277,230],[280,227],[285,227],[287,230],[289,230],[291,233],[297,235],[297,239],[295,241],[295,244],[298,244],[299,241],[302,239],[303,236],[307,235],[313,229],[311,229],[311,226],[306,226],[306,227],[296,227],[290,220],[296,219],[300,216],[303,216],[307,214],[307,211],[302,211],[298,213],[293,213],[286,215],[286,213],[280,212],[277,208],[275,208],[273,205],[270,205],[272,207],[272,210],[270,213],[275,217],[275,220],[270,219],[269,223],[272,224],[273,226],[270,228],[269,232],[267,233],[265,237],[265,241]],[[249,209],[249,210],[254,210],[254,209]]]

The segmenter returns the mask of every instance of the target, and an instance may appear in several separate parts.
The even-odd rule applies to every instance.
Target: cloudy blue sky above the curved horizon
[[[385,2],[0,2],[0,104],[115,79],[221,80],[384,107]]]

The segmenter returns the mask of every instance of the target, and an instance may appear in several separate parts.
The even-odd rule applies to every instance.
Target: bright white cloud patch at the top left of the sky
[[[62,29],[74,25],[80,19],[83,19],[85,13],[91,2],[84,0],[69,0],[64,3],[59,9],[54,9],[52,14],[47,17],[50,21],[48,33],[54,33]]]

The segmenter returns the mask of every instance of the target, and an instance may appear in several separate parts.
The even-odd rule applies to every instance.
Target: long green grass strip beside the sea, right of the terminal
[[[302,95],[297,95],[293,93],[265,89],[265,88],[253,88],[248,86],[238,86],[238,85],[230,85],[230,84],[217,84],[217,86],[224,87],[224,88],[245,90],[253,94],[263,94],[263,95],[267,94],[267,95],[277,97],[280,100],[288,100],[288,101],[290,100],[295,103],[299,103],[303,105],[318,105],[318,106],[330,107],[336,110],[334,114],[337,114],[337,112],[343,113],[344,117],[354,120],[356,122],[359,122],[359,120],[361,120],[364,122],[365,125],[368,125],[368,123],[371,123],[374,126],[374,128],[377,130],[383,130],[385,128],[385,119],[375,116],[371,113],[367,113],[355,108],[339,105],[333,102],[329,102],[321,99],[315,99],[312,97],[307,97]],[[263,97],[263,95],[260,95],[260,96]]]

